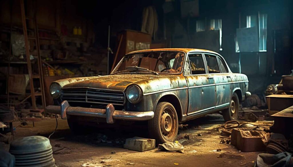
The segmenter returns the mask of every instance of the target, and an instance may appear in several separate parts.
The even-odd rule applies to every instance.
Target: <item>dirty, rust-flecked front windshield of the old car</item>
[[[127,54],[122,58],[111,74],[115,73],[164,73],[181,72],[184,53],[156,51]]]

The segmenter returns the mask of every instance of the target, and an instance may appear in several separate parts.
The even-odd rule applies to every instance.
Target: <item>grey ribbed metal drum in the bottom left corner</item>
[[[28,136],[14,140],[9,152],[15,156],[15,166],[55,167],[50,140],[43,136]]]

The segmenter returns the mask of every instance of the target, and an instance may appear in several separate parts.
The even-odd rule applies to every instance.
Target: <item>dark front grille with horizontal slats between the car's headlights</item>
[[[121,105],[125,103],[123,92],[92,89],[92,88],[65,88],[61,91],[61,99],[68,102],[85,102],[97,104]]]

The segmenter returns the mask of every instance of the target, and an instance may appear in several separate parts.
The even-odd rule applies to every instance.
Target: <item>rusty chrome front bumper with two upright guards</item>
[[[106,109],[71,107],[68,101],[63,101],[60,106],[47,106],[46,112],[60,114],[62,119],[67,119],[67,115],[106,118],[107,123],[114,123],[115,119],[144,121],[154,117],[153,111],[135,112],[115,110],[113,104],[108,104]]]

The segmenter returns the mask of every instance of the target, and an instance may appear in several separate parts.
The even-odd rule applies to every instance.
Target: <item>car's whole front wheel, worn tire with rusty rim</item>
[[[173,142],[178,133],[178,117],[174,106],[168,102],[158,103],[154,118],[148,121],[148,130],[156,144]]]

